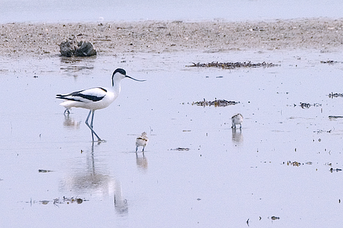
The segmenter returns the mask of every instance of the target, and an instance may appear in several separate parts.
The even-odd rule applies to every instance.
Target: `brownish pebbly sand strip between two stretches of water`
[[[58,45],[75,36],[91,41],[98,55],[229,50],[332,51],[343,48],[343,19],[6,23],[0,25],[0,55],[60,55]]]

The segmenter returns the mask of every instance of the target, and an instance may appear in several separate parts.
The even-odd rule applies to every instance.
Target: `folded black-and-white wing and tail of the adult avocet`
[[[88,102],[100,101],[101,99],[103,99],[103,97],[105,97],[106,93],[107,93],[107,90],[105,88],[96,87],[96,88],[89,88],[83,91],[76,91],[73,93],[69,93],[67,95],[58,94],[56,95],[57,96],[56,98],[88,103]]]

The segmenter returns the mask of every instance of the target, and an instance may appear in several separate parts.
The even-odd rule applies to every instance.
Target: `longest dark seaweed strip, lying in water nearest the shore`
[[[217,67],[217,68],[223,68],[223,69],[235,69],[235,68],[257,68],[257,67],[263,67],[263,68],[267,68],[267,67],[272,67],[272,66],[280,66],[279,64],[272,64],[272,63],[266,63],[265,61],[263,61],[262,63],[257,63],[254,64],[251,61],[243,61],[243,62],[227,62],[227,63],[219,63],[218,61],[212,61],[211,63],[208,64],[200,64],[197,63],[192,63],[193,67]]]

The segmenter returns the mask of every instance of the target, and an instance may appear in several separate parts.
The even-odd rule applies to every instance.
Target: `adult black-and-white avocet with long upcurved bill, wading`
[[[86,125],[91,129],[91,138],[94,141],[94,135],[98,138],[98,141],[101,141],[100,137],[96,134],[93,129],[93,120],[94,120],[94,111],[102,108],[106,108],[109,104],[112,104],[119,93],[121,93],[121,79],[128,77],[135,81],[144,82],[146,80],[137,80],[133,77],[126,75],[126,71],[118,68],[114,70],[112,75],[112,87],[94,87],[89,88],[83,91],[76,91],[66,95],[56,95],[56,98],[65,99],[60,105],[64,106],[69,114],[69,110],[73,107],[75,108],[86,108],[89,109],[89,113],[86,119]],[[88,123],[89,116],[91,115],[91,124]]]

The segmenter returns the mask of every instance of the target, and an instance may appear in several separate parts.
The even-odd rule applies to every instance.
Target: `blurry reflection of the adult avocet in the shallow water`
[[[86,160],[84,161],[86,153]],[[94,159],[94,142],[91,151],[83,151],[82,160],[73,160],[69,173],[60,182],[60,191],[72,193],[80,197],[89,195],[92,198],[114,197],[114,208],[120,216],[125,216],[128,211],[126,200],[120,182],[108,175],[106,164]]]

